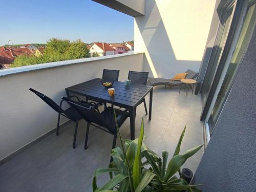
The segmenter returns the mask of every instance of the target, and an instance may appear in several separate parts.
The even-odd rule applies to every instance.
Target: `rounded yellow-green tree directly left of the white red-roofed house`
[[[81,39],[71,42],[69,48],[65,52],[66,59],[79,59],[87,57],[91,57],[91,55],[89,53],[89,49],[86,47],[86,44],[82,42]]]

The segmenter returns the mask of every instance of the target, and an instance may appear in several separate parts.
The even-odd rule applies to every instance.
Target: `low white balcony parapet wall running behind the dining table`
[[[119,80],[123,81],[129,70],[141,71],[142,62],[142,53],[129,53],[49,63],[48,68],[48,64],[40,64],[0,71],[0,160],[57,126],[57,113],[29,88],[59,103],[66,96],[65,88],[100,78],[103,69],[120,70]],[[29,71],[33,68],[41,70]],[[61,119],[61,123],[65,121]]]

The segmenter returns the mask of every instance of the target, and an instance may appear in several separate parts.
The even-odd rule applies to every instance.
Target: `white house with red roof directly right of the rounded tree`
[[[93,53],[96,53],[99,56],[114,55],[115,49],[105,42],[94,42],[90,48],[90,54],[93,55]]]

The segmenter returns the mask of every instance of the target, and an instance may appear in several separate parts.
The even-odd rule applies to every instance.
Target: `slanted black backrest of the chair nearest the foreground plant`
[[[93,122],[108,129],[108,125],[104,122],[100,114],[90,104],[73,101],[66,97],[62,97],[62,99],[67,101],[70,106],[74,108],[87,122]]]

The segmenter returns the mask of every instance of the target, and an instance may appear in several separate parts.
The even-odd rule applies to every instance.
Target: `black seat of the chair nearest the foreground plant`
[[[115,109],[115,112],[116,112],[117,118],[119,115],[121,115],[121,118],[119,118],[117,121],[118,126],[121,127],[121,125],[127,119],[127,117],[129,115],[127,112],[124,112],[124,111],[118,110],[118,109]],[[112,133],[115,133],[116,132],[116,123],[115,123],[115,116],[114,116],[113,108],[111,108],[109,106],[100,114],[100,116],[102,117],[102,119],[104,119],[104,121],[105,121],[106,125],[108,125],[108,128],[110,129],[110,131]]]

